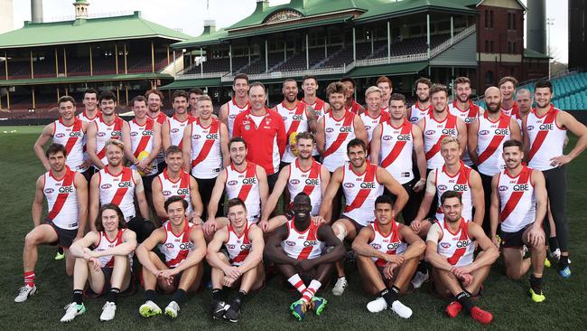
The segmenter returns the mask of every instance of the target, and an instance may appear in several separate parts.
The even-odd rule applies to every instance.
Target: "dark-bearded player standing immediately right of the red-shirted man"
[[[295,144],[295,136],[306,131],[315,133],[317,119],[314,110],[303,101],[297,99],[298,84],[295,80],[284,80],[282,92],[284,93],[284,100],[273,108],[284,119],[285,135],[287,136],[287,144],[285,144],[280,168],[291,164],[295,160],[295,154],[292,150]]]

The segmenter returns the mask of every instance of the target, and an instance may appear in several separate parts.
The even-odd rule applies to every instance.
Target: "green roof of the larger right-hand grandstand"
[[[477,14],[472,6],[478,3],[477,0],[291,0],[288,4],[269,6],[257,2],[255,11],[238,23],[174,43],[173,47],[205,46],[234,38],[349,21],[363,23],[429,10]]]

